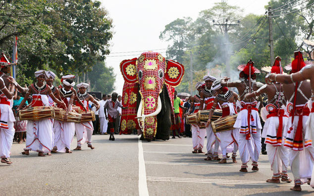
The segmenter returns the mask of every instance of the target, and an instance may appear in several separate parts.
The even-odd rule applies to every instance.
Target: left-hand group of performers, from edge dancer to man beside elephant
[[[2,163],[11,164],[10,150],[14,137],[15,122],[12,111],[13,96],[17,90],[25,94],[24,97],[32,97],[29,105],[26,105],[27,99],[19,99],[19,105],[16,109],[18,111],[25,111],[32,107],[52,106],[64,111],[63,119],[45,118],[40,120],[19,120],[18,123],[27,123],[26,126],[26,147],[22,155],[30,155],[30,151],[38,153],[38,156],[51,156],[51,153],[72,153],[71,142],[74,134],[77,136],[77,147],[73,150],[81,150],[81,146],[87,143],[87,147],[94,149],[92,145],[92,134],[94,131],[92,121],[86,122],[71,122],[69,113],[72,106],[79,107],[85,114],[89,110],[89,103],[93,103],[96,110],[100,109],[100,104],[92,95],[87,93],[87,83],[79,83],[76,85],[78,90],[73,87],[75,85],[74,75],[65,75],[61,78],[59,86],[53,86],[52,83],[55,74],[51,71],[39,70],[35,72],[37,81],[32,83],[29,87],[21,87],[14,78],[8,75],[9,65],[1,64],[0,72],[0,157]],[[16,90],[17,89],[17,90]],[[106,119],[108,119],[108,126],[110,128],[109,140],[114,140],[114,123],[115,118],[118,117],[118,107],[122,107],[117,100],[117,93],[112,93],[111,99],[102,105]],[[73,113],[71,113],[73,114]],[[74,113],[75,114],[75,113]],[[79,114],[79,113],[76,113]],[[84,112],[82,113],[84,114]],[[71,118],[75,118],[71,117]],[[17,123],[16,123],[17,125]],[[22,125],[21,125],[22,126]],[[20,136],[20,139],[23,136]]]

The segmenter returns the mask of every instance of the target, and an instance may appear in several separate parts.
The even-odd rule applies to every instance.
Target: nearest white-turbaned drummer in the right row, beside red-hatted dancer
[[[238,94],[233,92],[232,90],[228,90],[227,87],[221,87],[220,80],[214,81],[211,86],[212,91],[217,91],[217,95],[214,98],[214,102],[209,112],[209,119],[207,121],[206,126],[210,125],[210,118],[213,115],[214,110],[216,109],[217,103],[220,104],[222,109],[221,118],[226,118],[231,115],[237,114],[237,111],[234,107],[234,103],[238,100]],[[232,161],[236,161],[237,151],[238,151],[238,142],[237,142],[238,129],[232,129],[228,131],[222,131],[216,133],[216,137],[219,138],[220,148],[222,151],[222,159],[219,160],[218,163],[226,163],[227,162],[227,147],[233,144],[233,152],[232,152]]]

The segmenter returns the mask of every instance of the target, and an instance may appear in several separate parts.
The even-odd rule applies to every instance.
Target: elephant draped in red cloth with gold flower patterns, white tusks
[[[122,113],[121,132],[139,127],[148,141],[169,139],[174,87],[183,78],[184,66],[149,51],[122,61],[120,70],[125,80],[122,104],[129,107]]]

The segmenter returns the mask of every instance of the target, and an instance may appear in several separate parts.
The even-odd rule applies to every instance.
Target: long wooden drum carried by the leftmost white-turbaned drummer
[[[18,111],[20,120],[42,120],[46,118],[54,118],[54,110],[52,106],[35,106],[25,110]]]

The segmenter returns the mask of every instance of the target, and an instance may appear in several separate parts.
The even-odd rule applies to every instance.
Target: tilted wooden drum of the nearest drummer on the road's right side
[[[237,116],[238,115],[232,115],[223,118],[218,118],[217,120],[211,122],[212,131],[216,133],[234,129],[233,125],[237,119]]]

